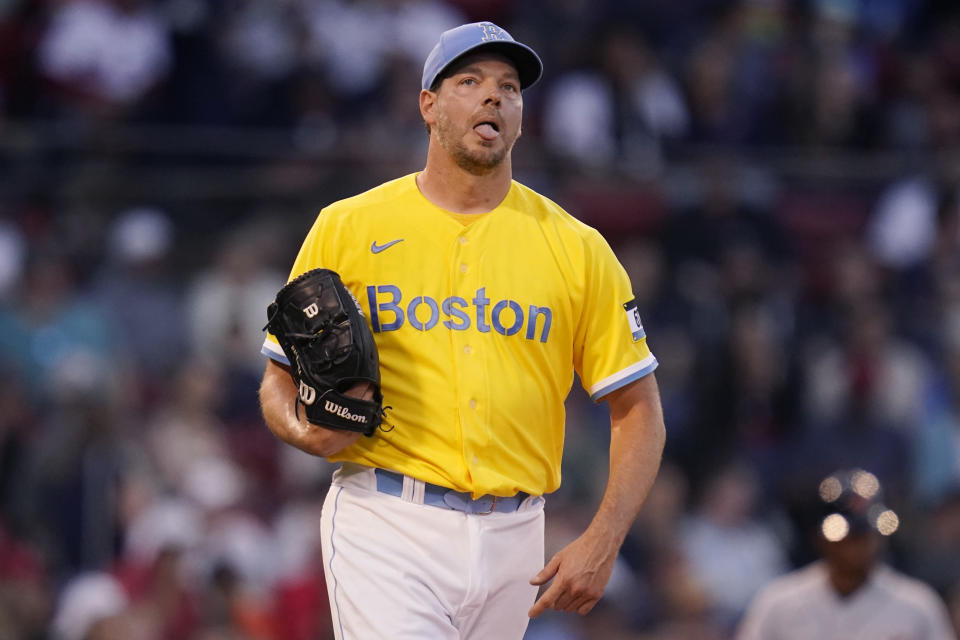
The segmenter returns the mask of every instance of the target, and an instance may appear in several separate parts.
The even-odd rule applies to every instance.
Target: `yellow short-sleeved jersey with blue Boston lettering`
[[[603,237],[518,182],[485,214],[437,207],[416,174],[333,203],[290,277],[317,267],[363,306],[392,407],[331,461],[474,497],[549,493],[574,372],[598,400],[657,366]],[[288,364],[271,335],[263,352]]]

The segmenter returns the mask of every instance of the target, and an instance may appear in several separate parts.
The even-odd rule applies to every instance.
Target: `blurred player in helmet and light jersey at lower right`
[[[876,476],[838,471],[819,493],[822,559],[762,589],[737,640],[956,640],[936,592],[879,561],[899,519]]]

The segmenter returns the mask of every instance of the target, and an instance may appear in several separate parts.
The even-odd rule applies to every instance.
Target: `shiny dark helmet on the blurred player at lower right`
[[[820,532],[830,542],[875,531],[892,535],[900,526],[897,514],[883,503],[883,488],[863,469],[842,469],[820,482],[823,517]]]

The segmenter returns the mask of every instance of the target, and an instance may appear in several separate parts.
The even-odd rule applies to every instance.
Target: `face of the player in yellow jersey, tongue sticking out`
[[[437,141],[457,165],[474,175],[503,162],[520,136],[520,77],[506,58],[465,58],[440,84],[433,109]]]

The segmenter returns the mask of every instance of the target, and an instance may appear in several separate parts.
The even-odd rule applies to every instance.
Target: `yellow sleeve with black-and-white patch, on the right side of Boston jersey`
[[[627,272],[596,231],[585,238],[584,293],[574,338],[574,368],[598,401],[657,368],[647,347]]]

